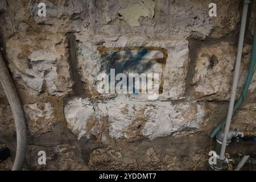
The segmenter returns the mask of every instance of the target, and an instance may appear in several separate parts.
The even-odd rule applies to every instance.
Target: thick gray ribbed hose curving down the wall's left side
[[[19,100],[18,93],[11,79],[7,65],[3,60],[3,55],[0,52],[0,81],[5,90],[6,97],[9,101],[11,112],[13,113],[15,127],[16,127],[16,156],[13,164],[13,171],[20,170],[24,162],[26,147],[27,147],[27,130],[26,122],[23,113],[23,108]]]

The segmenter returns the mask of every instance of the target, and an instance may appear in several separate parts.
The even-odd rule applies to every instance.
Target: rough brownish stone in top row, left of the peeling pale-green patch
[[[35,21],[31,26],[34,29],[44,28],[51,32],[80,31],[84,22],[89,18],[89,1],[46,1],[46,17],[38,16],[38,4],[42,1],[33,1],[28,12]]]

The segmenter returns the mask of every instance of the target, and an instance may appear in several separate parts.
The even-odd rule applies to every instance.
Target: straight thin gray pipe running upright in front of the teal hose
[[[223,142],[221,145],[221,151],[220,151],[220,159],[221,160],[225,159],[226,143],[227,143],[227,138],[228,138],[228,134],[229,134],[230,122],[231,122],[232,114],[233,114],[234,102],[236,99],[237,83],[238,83],[239,70],[240,70],[240,64],[241,64],[241,58],[242,58],[243,39],[245,37],[245,26],[246,26],[246,18],[247,18],[247,11],[248,11],[249,3],[250,3],[250,0],[243,1],[243,11],[242,11],[242,20],[241,20],[240,34],[239,34],[239,40],[238,40],[236,66],[235,66],[235,70],[234,70],[234,78],[233,78],[231,97],[230,97],[230,102],[229,102],[228,116],[226,118],[224,138],[223,138]]]

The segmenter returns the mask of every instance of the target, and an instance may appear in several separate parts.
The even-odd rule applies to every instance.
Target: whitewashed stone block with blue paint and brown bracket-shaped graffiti
[[[88,41],[80,35],[77,35],[77,39],[82,42],[78,44],[77,57],[82,81],[88,85],[92,97],[115,97],[115,94],[99,96],[97,92],[97,76],[100,73],[109,74],[112,68],[116,70],[115,74],[121,72],[127,76],[127,73],[159,73],[160,100],[179,100],[184,97],[189,63],[187,41],[160,42],[130,35],[118,38],[114,42],[109,41],[110,38],[100,39],[98,42],[104,43],[97,46],[96,40]],[[121,48],[118,48],[120,46]],[[140,96],[131,97],[144,100]]]

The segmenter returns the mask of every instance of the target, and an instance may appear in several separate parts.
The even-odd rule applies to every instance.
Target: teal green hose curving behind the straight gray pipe
[[[251,83],[251,78],[253,77],[253,73],[254,73],[254,69],[255,69],[255,62],[256,62],[256,20],[255,20],[255,27],[254,27],[253,49],[251,50],[251,60],[250,60],[249,72],[246,77],[245,85],[243,85],[242,93],[241,93],[240,97],[238,98],[238,100],[236,101],[236,104],[234,105],[233,115],[234,115],[235,111],[241,106],[241,104],[246,96],[246,93],[249,89],[249,86]],[[212,134],[210,134],[210,138],[214,138],[215,135],[218,133],[218,131],[220,131],[222,129],[222,127],[225,126],[225,124],[226,124],[226,119],[224,121],[222,121],[220,123],[220,125],[218,125],[213,130]]]

